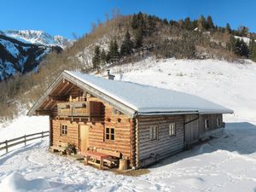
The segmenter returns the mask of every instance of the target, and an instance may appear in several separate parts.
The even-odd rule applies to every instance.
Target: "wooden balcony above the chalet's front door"
[[[57,108],[60,117],[102,116],[102,102],[61,102]]]

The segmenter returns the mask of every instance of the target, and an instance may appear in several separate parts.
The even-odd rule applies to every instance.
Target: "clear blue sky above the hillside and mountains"
[[[67,38],[90,32],[91,24],[118,10],[142,11],[167,20],[211,15],[218,26],[248,26],[256,32],[255,0],[1,0],[0,30],[33,29]]]

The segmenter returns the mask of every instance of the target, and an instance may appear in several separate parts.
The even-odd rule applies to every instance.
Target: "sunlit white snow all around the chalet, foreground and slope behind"
[[[256,190],[255,63],[146,60],[111,70],[117,79],[185,91],[232,108],[235,114],[224,115],[222,137],[163,160],[140,177],[99,171],[50,154],[48,140],[39,140],[0,157],[0,191]],[[22,116],[0,128],[0,141],[48,126],[48,118]]]

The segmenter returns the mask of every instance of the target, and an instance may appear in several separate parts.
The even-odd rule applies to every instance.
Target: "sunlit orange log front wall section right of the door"
[[[96,97],[87,97],[88,101],[102,102]],[[89,146],[96,148],[105,148],[119,151],[133,165],[133,139],[132,139],[132,119],[125,114],[119,113],[111,105],[102,102],[104,108],[104,121],[90,125],[89,129]],[[114,140],[107,140],[105,137],[105,128],[114,128]]]

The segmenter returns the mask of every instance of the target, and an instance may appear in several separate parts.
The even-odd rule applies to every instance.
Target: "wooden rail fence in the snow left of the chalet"
[[[24,143],[26,146],[27,142],[30,142],[38,138],[44,138],[44,137],[49,137],[49,131],[42,131],[42,132],[30,134],[30,135],[25,135],[22,137],[9,139],[9,140],[6,140],[5,142],[0,142],[0,151],[5,150],[5,154],[7,154],[9,152],[9,148],[14,147],[15,145]]]

